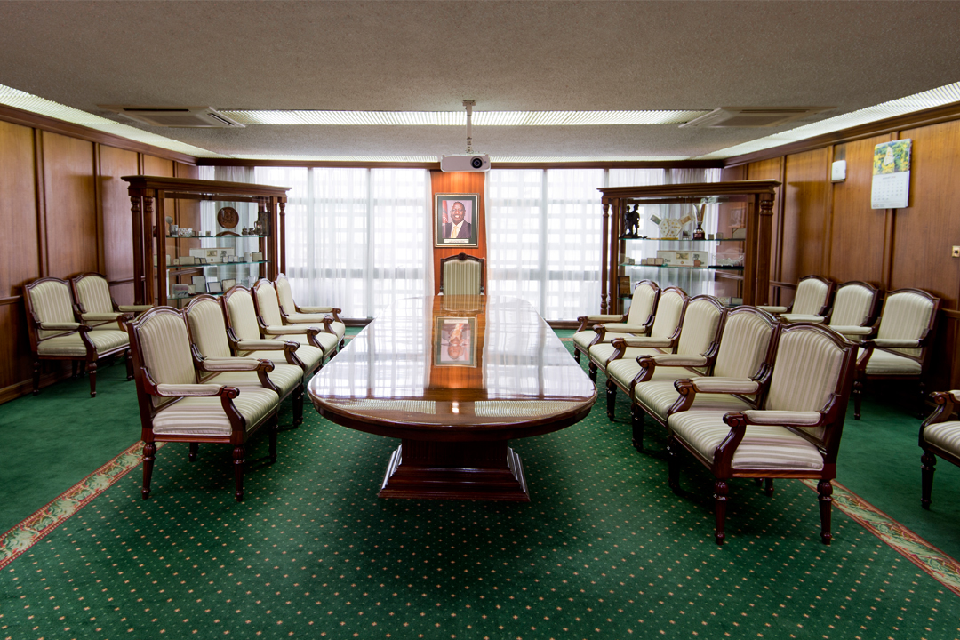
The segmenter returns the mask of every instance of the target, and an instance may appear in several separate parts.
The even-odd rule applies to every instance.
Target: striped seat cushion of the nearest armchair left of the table
[[[279,396],[269,389],[243,389],[233,405],[247,420],[247,432],[276,409]],[[222,436],[229,438],[232,428],[219,397],[188,397],[167,405],[154,416],[157,436]]]

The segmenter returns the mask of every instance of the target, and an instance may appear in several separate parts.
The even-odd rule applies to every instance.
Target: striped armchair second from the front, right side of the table
[[[741,305],[727,311],[720,343],[713,357],[699,361],[671,355],[637,358],[630,414],[636,449],[643,451],[645,416],[649,415],[660,426],[666,427],[667,418],[682,397],[674,384],[677,380],[692,379],[701,387],[721,384],[725,389],[732,389],[736,386],[736,391],[727,393],[705,391],[697,394],[693,409],[698,411],[756,409],[761,399],[757,392],[765,388],[770,377],[773,345],[779,326],[780,323],[765,311]],[[690,366],[701,363],[707,364],[706,376]]]

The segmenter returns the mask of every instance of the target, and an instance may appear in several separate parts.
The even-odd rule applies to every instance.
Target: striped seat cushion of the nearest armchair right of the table
[[[670,431],[708,461],[730,433],[725,411],[684,411],[671,415]],[[779,426],[751,425],[733,453],[734,470],[820,471],[824,459],[813,444]]]

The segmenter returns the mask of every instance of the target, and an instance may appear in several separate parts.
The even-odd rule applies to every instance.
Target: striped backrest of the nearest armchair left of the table
[[[178,309],[156,307],[127,325],[130,332],[134,369],[143,367],[157,385],[192,385],[197,373],[190,354],[186,322]],[[137,391],[145,392],[137,370]],[[150,396],[154,407],[170,398]]]

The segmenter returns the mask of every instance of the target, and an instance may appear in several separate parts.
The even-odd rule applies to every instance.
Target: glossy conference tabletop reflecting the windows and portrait
[[[362,420],[471,425],[549,419],[595,397],[534,308],[502,296],[400,300],[314,376],[309,392],[322,411]]]

